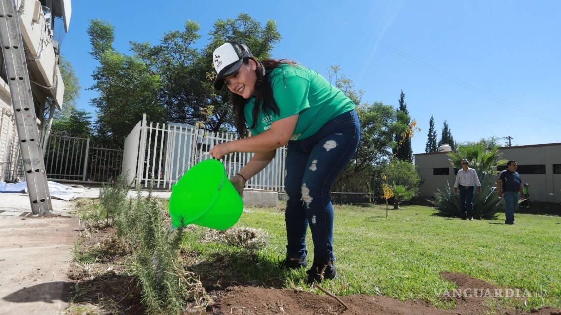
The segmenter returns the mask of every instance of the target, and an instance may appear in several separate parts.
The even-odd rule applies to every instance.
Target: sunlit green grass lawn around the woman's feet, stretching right
[[[221,276],[240,282],[310,290],[303,282],[305,270],[277,267],[285,253],[284,212],[247,209],[236,226],[266,231],[268,245],[248,253],[222,243],[201,243],[205,229],[196,228],[183,243],[197,256],[194,270],[212,274],[222,268]],[[526,309],[561,307],[561,217],[520,214],[514,225],[504,225],[504,214],[498,220],[462,221],[434,212],[431,207],[403,206],[389,210],[386,218],[385,206],[335,206],[333,247],[339,277],[325,281],[324,288],[338,295],[382,294],[450,307],[439,297],[455,285],[439,272],[463,272],[532,293],[527,305],[501,303]],[[307,244],[311,261],[310,234]]]

